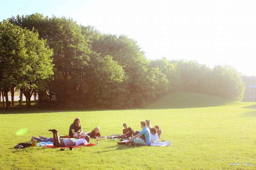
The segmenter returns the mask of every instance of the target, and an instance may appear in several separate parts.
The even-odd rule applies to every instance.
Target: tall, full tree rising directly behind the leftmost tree
[[[54,64],[54,80],[47,84],[48,92],[53,94],[55,100],[76,103],[81,96],[78,89],[82,90],[87,79],[85,72],[90,59],[90,50],[81,27],[72,19],[48,18],[41,14],[17,16],[10,20],[31,31],[35,28],[41,38],[47,39],[49,47],[53,49]]]

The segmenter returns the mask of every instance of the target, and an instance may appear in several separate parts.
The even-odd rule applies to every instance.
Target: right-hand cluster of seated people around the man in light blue
[[[150,120],[141,121],[142,131],[140,132],[134,132],[132,128],[128,128],[128,125],[126,123],[123,124],[123,127],[125,129],[123,129],[123,134],[121,136],[128,137],[129,141],[117,142],[118,144],[149,145],[150,142],[159,142],[160,135],[162,133],[162,130],[159,128],[158,125],[152,128]]]

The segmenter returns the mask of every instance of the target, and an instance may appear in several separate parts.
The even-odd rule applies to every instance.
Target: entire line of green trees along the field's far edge
[[[42,107],[112,109],[144,107],[173,91],[240,101],[245,91],[231,66],[211,69],[197,61],[148,60],[125,35],[38,13],[0,24],[0,88],[8,96],[14,87],[21,89],[28,107],[37,92]]]

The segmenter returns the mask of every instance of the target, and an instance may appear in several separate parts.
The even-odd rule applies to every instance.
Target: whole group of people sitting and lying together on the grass
[[[53,146],[56,147],[70,147],[75,145],[86,145],[90,142],[90,138],[100,137],[99,127],[95,127],[88,133],[83,132],[81,125],[81,119],[75,118],[74,122],[69,127],[69,138],[59,138],[58,130],[49,129],[53,133],[53,137],[46,138],[39,135],[39,138],[32,136],[31,141],[37,140],[39,142],[53,142]],[[127,137],[129,142],[118,142],[118,144],[129,144],[134,143],[138,145],[149,145],[150,142],[158,142],[162,130],[159,129],[159,126],[151,127],[150,120],[141,121],[142,131],[136,131],[132,128],[128,128],[126,123],[123,124],[123,134],[122,137]],[[150,133],[151,132],[151,133]],[[141,137],[141,138],[139,138]],[[78,138],[78,139],[74,139]]]

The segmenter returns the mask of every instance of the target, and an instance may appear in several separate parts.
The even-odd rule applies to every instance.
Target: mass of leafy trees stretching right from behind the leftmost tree
[[[46,88],[38,86],[38,89],[41,89],[40,99],[53,101],[60,107],[143,107],[156,97],[174,91],[233,100],[243,98],[245,86],[231,67],[211,69],[197,61],[147,60],[135,40],[125,35],[103,34],[65,17],[49,18],[36,13],[8,20],[35,34],[38,32],[53,49],[54,75],[43,81]],[[33,68],[35,73],[40,70],[36,64]],[[36,78],[32,70],[29,75],[34,75],[30,79]]]

